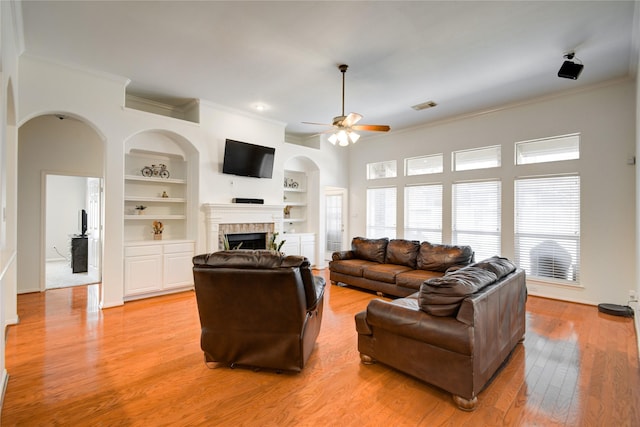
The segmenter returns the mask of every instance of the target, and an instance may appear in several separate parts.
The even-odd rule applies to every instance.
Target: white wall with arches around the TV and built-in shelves
[[[200,124],[124,108],[127,83],[121,77],[82,71],[28,56],[20,60],[19,124],[41,114],[63,112],[82,119],[103,141],[103,307],[119,305],[123,301],[123,159],[126,143],[133,136],[145,131],[160,132],[177,135],[193,146],[199,158],[197,206],[231,203],[234,197],[258,197],[265,199],[265,203],[282,204],[283,165],[288,158],[298,155],[312,158],[319,169],[327,171],[320,179],[321,185],[347,185],[343,151],[334,147],[313,150],[286,144],[284,123],[242,114],[208,101],[201,101]],[[221,162],[226,138],[275,147],[273,179],[223,175]],[[55,168],[55,165],[49,168]],[[196,251],[203,252],[206,250],[203,212],[199,212],[196,234]]]

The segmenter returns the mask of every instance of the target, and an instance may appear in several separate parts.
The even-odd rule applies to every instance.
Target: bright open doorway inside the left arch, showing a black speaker
[[[101,179],[45,173],[45,289],[101,281]]]

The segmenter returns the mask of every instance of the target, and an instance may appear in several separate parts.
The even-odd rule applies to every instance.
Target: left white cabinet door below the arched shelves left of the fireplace
[[[146,255],[124,259],[125,295],[143,294],[162,289],[162,256]]]

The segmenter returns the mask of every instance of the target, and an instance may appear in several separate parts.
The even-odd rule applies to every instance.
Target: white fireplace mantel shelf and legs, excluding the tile
[[[249,203],[202,205],[207,221],[207,250],[220,250],[220,224],[273,224],[274,232],[281,232],[283,205],[258,205]]]

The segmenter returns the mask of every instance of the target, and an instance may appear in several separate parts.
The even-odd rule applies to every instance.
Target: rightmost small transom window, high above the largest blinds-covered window
[[[557,162],[580,158],[580,134],[516,142],[516,164]]]

